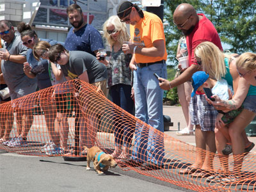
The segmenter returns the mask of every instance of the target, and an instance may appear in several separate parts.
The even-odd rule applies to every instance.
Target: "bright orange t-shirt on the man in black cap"
[[[167,60],[167,52],[165,47],[164,27],[162,20],[155,14],[143,12],[143,19],[136,24],[130,26],[132,41],[138,47],[153,47],[153,42],[156,40],[164,40],[164,56],[150,57],[142,54],[135,54],[136,63],[152,63],[155,61]]]

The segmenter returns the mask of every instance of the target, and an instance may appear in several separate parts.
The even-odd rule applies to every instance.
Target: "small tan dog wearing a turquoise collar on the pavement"
[[[83,146],[84,150],[87,151],[87,166],[86,170],[90,170],[90,162],[93,161],[94,169],[97,173],[102,174],[103,172],[100,170],[102,168],[103,171],[108,171],[110,167],[116,167],[117,163],[114,160],[113,156],[109,154],[105,154],[100,150],[99,147],[91,147],[87,148]]]

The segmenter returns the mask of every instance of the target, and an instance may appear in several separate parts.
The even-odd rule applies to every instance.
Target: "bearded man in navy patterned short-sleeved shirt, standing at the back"
[[[68,6],[67,14],[73,27],[68,32],[65,49],[85,51],[96,56],[98,49],[104,48],[99,31],[86,23],[86,20],[83,19],[83,10],[78,4]]]

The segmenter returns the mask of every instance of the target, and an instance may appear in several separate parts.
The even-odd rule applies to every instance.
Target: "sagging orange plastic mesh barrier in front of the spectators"
[[[221,158],[221,164],[218,155],[153,129],[106,99],[95,86],[79,80],[67,81],[1,104],[0,123],[1,137],[5,134],[14,138],[22,134],[26,138],[26,141],[21,141],[21,146],[15,146],[19,138],[1,143],[0,148],[8,152],[84,157],[83,145],[89,148],[97,145],[111,154],[115,142],[123,143],[129,148],[127,153],[130,156],[137,154],[138,161],[154,157],[163,166],[143,170],[141,164],[129,159],[116,159],[122,170],[134,170],[195,191],[256,191],[255,152]],[[189,174],[179,172],[195,163],[199,156],[205,157],[204,167],[211,170],[192,169],[188,170]],[[238,164],[235,169],[234,159]],[[226,171],[221,171],[221,168]]]

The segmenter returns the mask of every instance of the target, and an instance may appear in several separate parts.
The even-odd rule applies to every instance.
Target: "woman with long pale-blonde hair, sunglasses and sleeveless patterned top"
[[[111,56],[109,61],[104,58],[100,61],[108,68],[108,87],[112,101],[125,111],[132,114],[134,102],[131,98],[131,70],[129,63],[132,55],[122,51],[122,44],[130,40],[124,22],[118,16],[109,17],[103,24],[104,38],[106,38]],[[99,52],[97,53],[99,59]],[[131,126],[131,125],[130,125]],[[129,125],[115,124],[115,150],[113,157],[129,158],[129,146],[131,145],[133,130]]]

